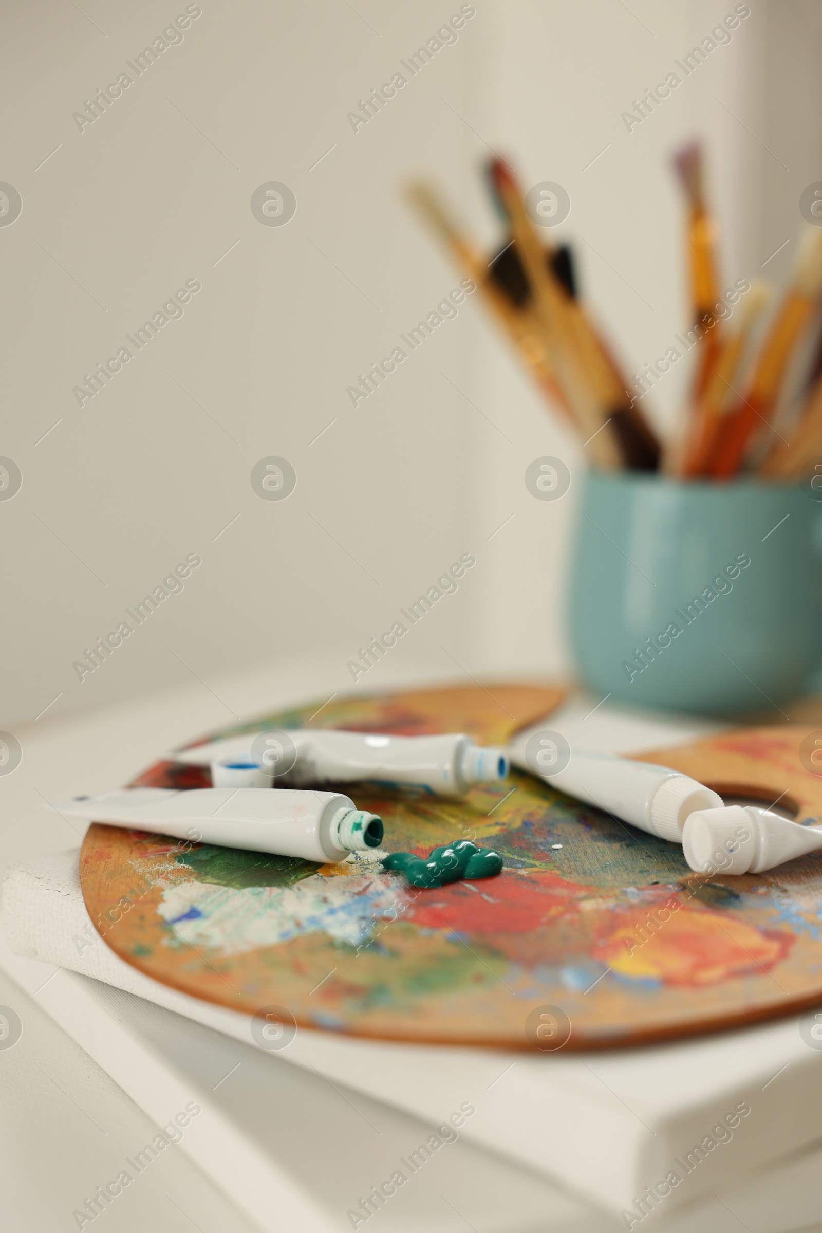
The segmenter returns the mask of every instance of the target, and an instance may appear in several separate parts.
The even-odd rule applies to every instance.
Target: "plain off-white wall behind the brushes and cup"
[[[669,166],[683,141],[707,142],[725,276],[787,269],[792,240],[762,263],[822,179],[818,5],[752,0],[733,42],[629,133],[631,100],[733,5],[477,0],[456,46],[355,133],[346,112],[457,4],[202,0],[185,41],[80,133],[73,111],[184,7],[48,0],[1,16],[0,180],[23,210],[0,227],[0,454],[23,486],[0,502],[0,721],[195,677],[212,707],[210,682],[260,661],[311,660],[329,689],[354,688],[346,661],[465,551],[476,568],[392,651],[392,673],[568,672],[583,451],[482,306],[356,409],[346,396],[458,281],[399,185],[437,180],[492,244],[492,148],[526,186],[563,184],[587,297],[626,363],[653,359],[688,321]],[[298,202],[282,228],[249,206],[271,180]],[[78,407],[73,386],[190,277],[202,291],[182,319]],[[661,425],[684,377],[654,397]],[[542,454],[574,476],[557,504],[523,482]],[[286,502],[251,490],[266,455],[297,471]],[[192,551],[185,592],[80,683],[73,661]],[[377,667],[356,688],[380,684]]]

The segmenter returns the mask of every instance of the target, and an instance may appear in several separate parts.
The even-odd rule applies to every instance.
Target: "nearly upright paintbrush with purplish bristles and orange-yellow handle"
[[[673,159],[689,207],[688,265],[694,324],[701,334],[696,353],[696,371],[691,401],[699,407],[711,371],[720,354],[721,326],[715,316],[718,300],[714,258],[715,227],[705,206],[702,148],[699,142],[685,145]]]

